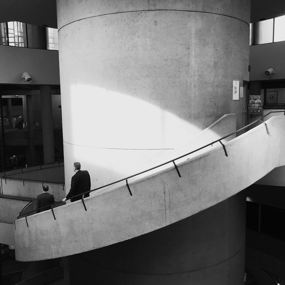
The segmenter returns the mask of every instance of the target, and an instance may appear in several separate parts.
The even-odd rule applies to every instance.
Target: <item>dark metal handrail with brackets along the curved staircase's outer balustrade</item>
[[[266,123],[264,123],[261,119],[263,119],[264,117],[266,117],[267,115],[269,115],[269,114],[271,114],[271,113],[279,113],[279,112],[283,112],[283,113],[284,113],[284,110],[282,110],[282,111],[271,111],[271,112],[267,113],[266,115],[262,116],[260,119],[257,119],[256,121],[254,121],[254,122],[248,124],[247,126],[241,128],[241,129],[239,129],[239,130],[237,130],[237,131],[235,131],[235,132],[233,132],[233,133],[231,133],[231,134],[229,134],[229,135],[226,135],[225,137],[222,137],[221,139],[217,139],[216,141],[213,141],[213,142],[211,142],[211,143],[209,143],[209,144],[206,144],[206,145],[204,145],[204,146],[202,146],[202,147],[200,147],[200,148],[197,148],[196,150],[193,150],[193,151],[191,151],[191,152],[188,152],[188,153],[186,153],[186,154],[183,154],[183,155],[181,155],[181,156],[178,156],[178,157],[176,157],[176,158],[173,158],[172,160],[169,160],[169,161],[167,161],[167,162],[164,162],[164,163],[162,163],[162,164],[159,164],[159,165],[154,166],[154,167],[152,167],[152,168],[149,168],[149,169],[147,169],[147,170],[144,170],[144,171],[141,171],[141,172],[139,172],[139,173],[136,173],[136,174],[130,175],[130,176],[128,176],[128,177],[122,178],[122,179],[117,180],[117,181],[115,181],[115,182],[111,182],[111,183],[109,183],[109,184],[100,186],[100,187],[95,188],[95,189],[93,189],[93,190],[89,190],[89,191],[86,191],[86,192],[84,192],[84,193],[81,193],[81,194],[72,196],[71,198],[75,198],[75,197],[82,196],[82,199],[81,199],[81,200],[82,200],[82,203],[83,203],[83,205],[84,205],[85,210],[87,211],[86,206],[85,206],[85,203],[84,203],[84,198],[83,198],[83,197],[84,197],[84,196],[83,196],[84,194],[88,194],[88,193],[90,193],[90,192],[93,192],[93,191],[96,191],[96,190],[105,188],[105,187],[107,187],[107,186],[110,186],[110,185],[113,185],[113,184],[116,184],[116,183],[119,183],[119,182],[122,182],[122,181],[124,181],[124,180],[126,181],[126,186],[127,186],[128,190],[129,190],[129,192],[130,192],[130,195],[132,196],[133,194],[132,194],[132,192],[131,192],[131,190],[130,190],[130,187],[129,187],[129,184],[128,184],[128,179],[129,179],[129,178],[132,178],[132,177],[134,177],[134,176],[143,174],[143,173],[145,173],[145,172],[148,172],[148,171],[153,170],[153,169],[155,169],[155,168],[158,168],[158,167],[160,167],[160,166],[166,165],[166,164],[168,164],[168,163],[170,163],[170,162],[172,162],[172,163],[174,164],[174,167],[175,167],[175,169],[176,169],[176,171],[177,171],[177,173],[178,173],[178,176],[181,177],[181,176],[180,176],[180,173],[179,173],[179,170],[178,170],[178,168],[177,168],[177,166],[176,166],[176,164],[175,164],[175,160],[178,160],[178,159],[180,159],[180,158],[182,158],[182,157],[184,157],[184,156],[187,156],[187,155],[189,155],[189,154],[192,154],[192,153],[194,153],[194,152],[196,152],[196,151],[198,151],[198,150],[201,150],[201,149],[203,149],[203,148],[205,148],[205,147],[207,147],[207,146],[210,146],[210,145],[212,145],[212,144],[214,144],[214,143],[217,143],[217,142],[221,143],[221,145],[223,146],[223,149],[224,149],[224,151],[225,151],[225,155],[228,156],[227,151],[226,151],[226,148],[225,148],[225,145],[221,142],[221,140],[223,140],[223,139],[225,139],[225,138],[227,138],[227,137],[230,137],[230,136],[232,136],[232,135],[234,135],[234,134],[236,134],[236,133],[242,131],[243,129],[248,128],[249,126],[251,126],[251,125],[257,123],[258,121],[261,121],[261,122],[265,125],[265,127],[266,127],[266,132],[268,133],[267,125],[266,125]],[[71,198],[69,198],[69,199],[67,199],[67,200],[70,200]],[[53,214],[53,216],[54,216],[54,219],[56,219],[56,218],[55,218],[55,215],[54,215],[53,208],[54,208],[54,205],[59,204],[59,203],[62,203],[62,201],[60,201],[60,202],[55,202],[55,203],[51,204],[51,211],[52,211],[52,214]],[[43,209],[43,208],[44,208],[44,207],[38,208],[38,210],[39,210],[39,209]],[[32,212],[35,212],[35,211],[36,211],[36,210],[33,210],[33,211],[28,212],[28,213],[32,213]],[[27,214],[28,214],[28,213],[27,213]],[[20,215],[19,215],[19,216],[20,216]],[[19,216],[17,217],[17,219],[19,219]],[[26,222],[27,222],[27,217],[26,217]],[[27,225],[28,225],[28,222],[27,222]]]

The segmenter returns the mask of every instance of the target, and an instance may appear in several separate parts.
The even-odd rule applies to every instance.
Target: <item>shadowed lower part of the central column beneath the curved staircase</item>
[[[241,192],[162,229],[70,256],[70,284],[243,284],[244,242]]]

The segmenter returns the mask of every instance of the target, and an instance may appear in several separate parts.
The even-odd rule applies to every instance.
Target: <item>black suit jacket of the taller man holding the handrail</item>
[[[78,170],[71,178],[71,187],[66,199],[91,190],[90,175],[87,170]],[[89,197],[89,193],[84,194],[84,198]],[[81,200],[82,196],[71,198],[70,201]]]

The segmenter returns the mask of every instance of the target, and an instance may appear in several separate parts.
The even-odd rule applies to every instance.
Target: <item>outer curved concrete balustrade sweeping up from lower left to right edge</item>
[[[156,174],[15,222],[16,258],[73,255],[141,236],[239,193],[285,165],[285,117],[276,116],[222,146]]]

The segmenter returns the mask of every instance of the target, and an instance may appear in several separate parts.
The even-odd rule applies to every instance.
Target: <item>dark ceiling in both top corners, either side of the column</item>
[[[0,22],[57,28],[56,0],[0,0]],[[285,1],[251,0],[251,23],[285,15]]]

